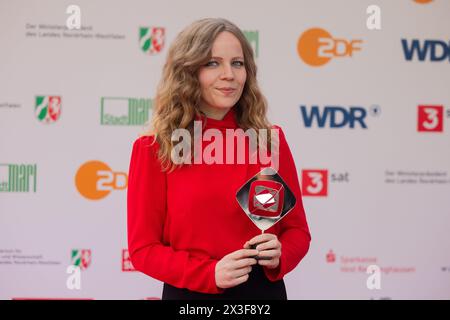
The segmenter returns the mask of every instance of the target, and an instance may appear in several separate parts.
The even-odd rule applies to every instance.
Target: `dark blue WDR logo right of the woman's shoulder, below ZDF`
[[[354,129],[359,127],[367,129],[366,117],[368,114],[378,116],[381,113],[379,106],[372,106],[369,110],[363,107],[325,106],[322,110],[313,105],[308,108],[300,106],[300,115],[305,127],[311,128],[313,123],[318,128],[329,127],[332,129],[348,127]]]

